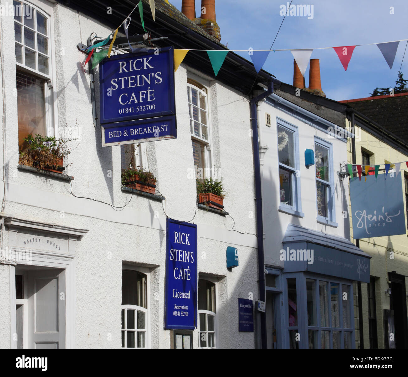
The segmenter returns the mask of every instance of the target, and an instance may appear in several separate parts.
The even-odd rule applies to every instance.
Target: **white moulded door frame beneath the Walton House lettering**
[[[13,249],[11,250],[18,250]],[[56,254],[44,251],[32,251],[32,263],[30,266],[47,268],[62,268],[65,270],[65,348],[75,348],[75,257],[70,254]],[[19,265],[18,265],[19,266]],[[22,265],[24,266],[24,264]],[[10,346],[17,348],[17,342],[13,340],[16,330],[16,267],[10,266],[10,309],[11,309],[11,336]]]

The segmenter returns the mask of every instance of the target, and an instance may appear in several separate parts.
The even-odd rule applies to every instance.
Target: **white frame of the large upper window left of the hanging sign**
[[[40,11],[47,18],[48,28],[48,47],[49,47],[49,74],[46,75],[38,70],[31,69],[24,64],[17,62],[16,70],[19,69],[25,73],[31,74],[38,78],[46,80],[44,84],[44,102],[45,102],[45,117],[46,117],[46,130],[47,135],[43,136],[55,136],[58,139],[58,107],[57,107],[57,95],[54,90],[56,82],[56,69],[55,69],[55,41],[54,41],[54,21],[53,21],[53,6],[48,1],[42,0],[18,0],[22,4],[27,4],[33,7],[35,10]],[[36,20],[35,20],[36,21]],[[15,20],[13,20],[14,24]],[[24,35],[24,28],[22,28],[22,35]],[[24,38],[24,37],[23,37]],[[35,38],[37,40],[37,38]],[[16,43],[16,42],[15,42]],[[19,42],[17,42],[19,43]],[[64,51],[61,51],[63,54]],[[16,57],[15,57],[16,58]],[[23,60],[24,61],[24,60]]]

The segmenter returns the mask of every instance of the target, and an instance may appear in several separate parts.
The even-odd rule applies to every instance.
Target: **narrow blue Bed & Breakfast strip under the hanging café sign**
[[[175,116],[141,119],[102,126],[102,146],[133,144],[177,137]]]

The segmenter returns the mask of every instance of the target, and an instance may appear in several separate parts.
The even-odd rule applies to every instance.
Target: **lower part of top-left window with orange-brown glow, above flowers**
[[[24,138],[32,135],[47,135],[45,122],[44,80],[16,72],[18,147],[24,149]]]

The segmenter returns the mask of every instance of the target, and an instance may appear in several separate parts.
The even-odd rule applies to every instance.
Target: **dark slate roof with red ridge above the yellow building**
[[[339,102],[347,103],[408,144],[408,93]]]

